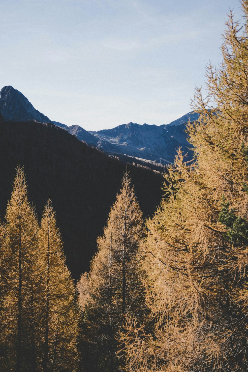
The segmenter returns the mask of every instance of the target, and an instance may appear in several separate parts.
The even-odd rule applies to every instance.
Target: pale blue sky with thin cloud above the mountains
[[[0,89],[49,119],[97,131],[168,124],[222,61],[239,0],[0,0]]]

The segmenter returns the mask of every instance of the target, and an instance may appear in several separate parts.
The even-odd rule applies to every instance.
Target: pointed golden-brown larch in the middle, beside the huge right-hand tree
[[[139,319],[145,312],[137,256],[141,234],[142,214],[126,173],[90,272],[78,282],[86,371],[126,370],[119,334],[129,316]]]

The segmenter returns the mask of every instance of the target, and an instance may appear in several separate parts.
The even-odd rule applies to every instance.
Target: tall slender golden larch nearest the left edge
[[[17,167],[13,192],[6,211],[3,243],[4,295],[1,308],[4,353],[1,371],[36,371],[39,352],[39,321],[42,263],[39,226],[28,202],[23,168]]]

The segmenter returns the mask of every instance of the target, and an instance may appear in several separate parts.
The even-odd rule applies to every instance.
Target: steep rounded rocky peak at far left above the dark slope
[[[19,90],[6,86],[0,92],[0,113],[6,121],[35,120],[51,123],[47,116],[35,110],[32,103]]]

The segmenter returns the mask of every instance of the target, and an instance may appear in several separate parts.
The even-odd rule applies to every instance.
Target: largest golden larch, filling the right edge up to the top
[[[123,335],[132,371],[248,371],[248,1],[228,17],[223,63],[196,90],[194,160],[178,151],[147,221],[143,281],[153,331]],[[166,186],[169,185],[169,186]]]

